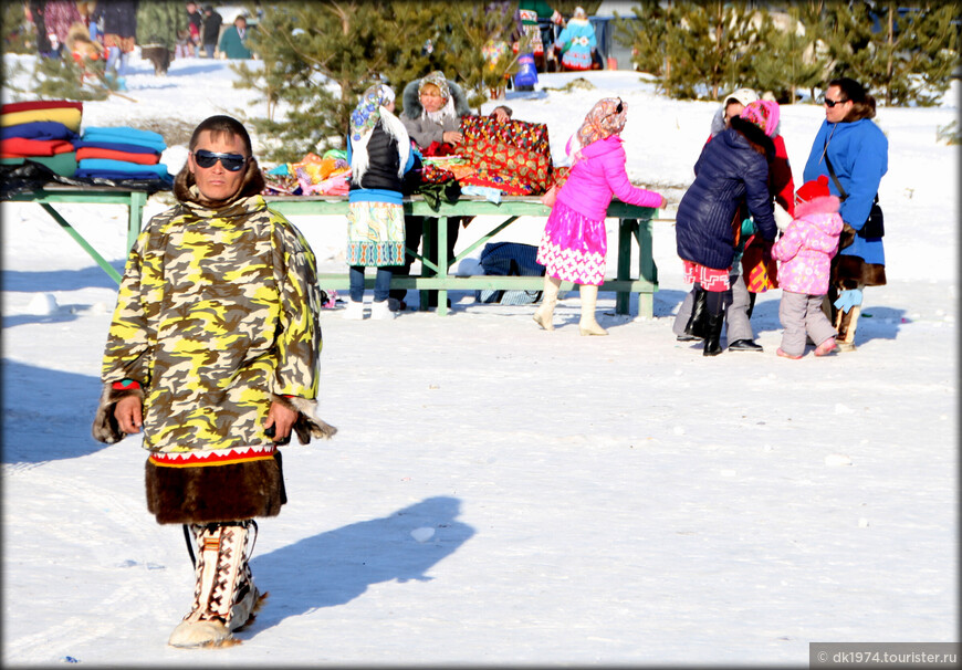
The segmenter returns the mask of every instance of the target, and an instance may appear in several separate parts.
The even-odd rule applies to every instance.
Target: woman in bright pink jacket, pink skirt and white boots
[[[582,335],[607,335],[595,321],[598,286],[605,281],[608,237],[605,216],[611,196],[641,207],[663,208],[662,196],[635,188],[625,172],[621,129],[628,118],[628,105],[617,97],[595,103],[582,127],[568,140],[575,165],[558,191],[537,249],[537,262],[545,266],[544,299],[534,321],[553,331],[552,316],[562,281],[578,284],[582,296]]]

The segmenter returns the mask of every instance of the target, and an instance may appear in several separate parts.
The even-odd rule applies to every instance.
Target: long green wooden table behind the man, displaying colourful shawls
[[[331,196],[312,197],[285,197],[269,196],[265,198],[268,206],[285,217],[296,219],[297,216],[328,216],[347,214],[347,198]],[[402,276],[391,279],[391,287],[414,289],[421,291],[421,305],[427,305],[426,291],[438,291],[438,315],[448,313],[448,291],[477,291],[477,290],[524,290],[540,291],[544,286],[544,279],[540,276],[495,276],[495,275],[470,275],[458,276],[450,274],[452,265],[469,257],[481,244],[488,242],[495,234],[511,226],[519,217],[545,217],[551,208],[541,203],[537,198],[504,197],[501,203],[495,205],[481,198],[461,198],[456,203],[442,202],[438,211],[432,210],[420,197],[406,198],[404,201],[405,213],[412,216],[429,217],[436,222],[435,227],[425,227],[425,237],[438,238],[438,264],[431,263],[416,249],[407,249],[407,253],[421,261],[422,265],[437,272],[437,276]],[[615,311],[618,314],[628,314],[631,293],[638,294],[638,315],[651,318],[653,315],[653,296],[658,291],[658,269],[651,254],[651,220],[658,210],[648,207],[626,205],[613,200],[608,207],[608,217],[617,218],[618,227],[618,260],[616,279],[606,280],[602,284],[602,291],[614,291],[616,295]],[[461,251],[454,258],[448,258],[448,217],[499,217],[501,220],[493,222],[481,238],[470,247]],[[477,231],[479,221],[471,223],[472,232]],[[632,275],[631,257],[632,242],[638,248],[637,274]],[[443,269],[440,270],[439,269]],[[318,283],[323,287],[344,290],[349,285],[346,272],[336,274],[318,275]],[[569,282],[562,284],[563,291],[572,289]],[[374,287],[374,278],[365,278],[365,287]],[[427,307],[422,307],[427,308]]]

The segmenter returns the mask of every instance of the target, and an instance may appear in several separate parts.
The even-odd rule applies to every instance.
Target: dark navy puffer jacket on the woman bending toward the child
[[[760,154],[753,146],[764,149]],[[734,259],[732,220],[745,202],[755,226],[766,240],[774,240],[772,196],[768,193],[768,160],[775,147],[761,128],[732,118],[732,127],[709,142],[694,164],[694,184],[686,191],[676,214],[676,245],[683,261],[726,270]]]

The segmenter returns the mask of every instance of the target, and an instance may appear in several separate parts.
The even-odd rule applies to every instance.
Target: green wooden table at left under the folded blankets
[[[140,219],[144,216],[144,205],[147,202],[147,192],[138,190],[129,190],[121,187],[112,186],[65,186],[59,184],[49,184],[43,188],[33,191],[27,191],[10,196],[7,200],[11,202],[36,202],[54,221],[60,223],[76,242],[86,251],[97,265],[106,272],[111,279],[117,284],[121,283],[121,275],[101,255],[93,245],[81,235],[76,229],[71,226],[63,214],[57,211],[54,205],[59,203],[81,203],[81,205],[123,205],[127,208],[127,250],[137,241],[137,234],[140,232]]]

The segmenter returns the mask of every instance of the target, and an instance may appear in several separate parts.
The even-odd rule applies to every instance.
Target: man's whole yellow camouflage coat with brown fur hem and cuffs
[[[92,432],[123,439],[114,407],[140,398],[147,509],[159,523],[280,512],[271,404],[297,412],[303,444],[336,432],[314,415],[320,307],[310,247],[260,196],[217,210],[184,202],[147,224],[127,259]]]

